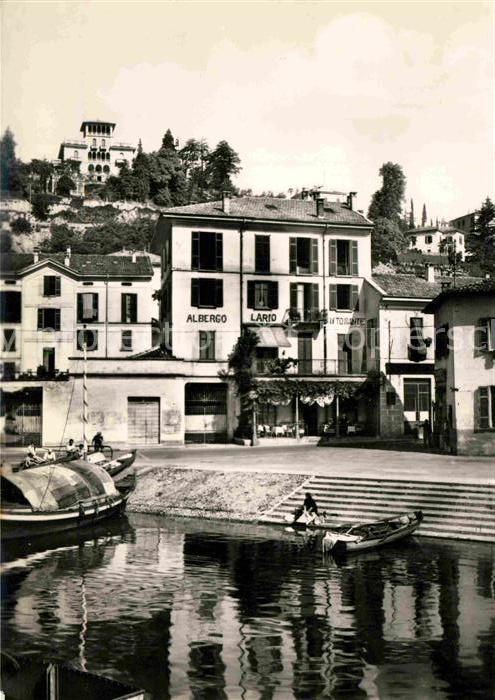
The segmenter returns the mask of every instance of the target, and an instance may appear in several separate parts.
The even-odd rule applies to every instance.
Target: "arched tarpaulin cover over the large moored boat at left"
[[[112,477],[104,469],[82,461],[4,473],[2,478],[22,492],[33,510],[53,511],[94,496],[118,496]]]

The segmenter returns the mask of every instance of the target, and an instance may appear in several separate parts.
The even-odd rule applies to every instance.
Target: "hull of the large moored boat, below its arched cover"
[[[0,513],[2,539],[38,537],[94,525],[124,512],[129,494],[112,499],[111,503],[90,504],[84,509],[32,511],[28,508],[4,508]]]

